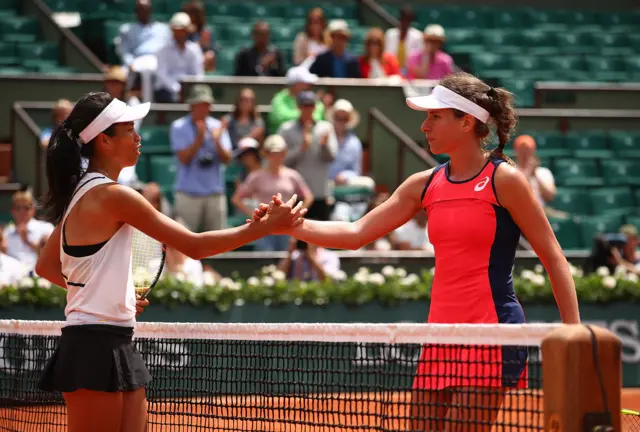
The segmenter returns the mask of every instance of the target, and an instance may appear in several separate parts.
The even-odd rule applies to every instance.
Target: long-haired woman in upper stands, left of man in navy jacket
[[[329,49],[329,35],[326,33],[326,26],[327,22],[322,8],[311,9],[307,14],[304,31],[298,33],[293,41],[293,64],[297,66],[305,60],[311,63],[318,54]]]

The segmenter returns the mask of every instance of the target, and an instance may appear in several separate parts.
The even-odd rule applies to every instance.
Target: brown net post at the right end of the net
[[[596,429],[598,425],[621,430],[621,352],[620,339],[597,326],[565,325],[544,338],[542,378],[546,432],[610,430]]]

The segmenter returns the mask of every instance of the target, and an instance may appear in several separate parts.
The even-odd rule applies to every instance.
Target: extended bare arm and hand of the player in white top
[[[101,205],[106,217],[131,225],[193,259],[227,252],[273,231],[288,228],[293,223],[299,223],[299,218],[306,213],[301,204],[292,208],[296,198],[294,195],[283,210],[279,210],[279,206],[273,206],[271,214],[261,220],[236,228],[194,233],[154,209],[141,194],[131,188],[113,184],[105,189],[108,191],[103,195]]]

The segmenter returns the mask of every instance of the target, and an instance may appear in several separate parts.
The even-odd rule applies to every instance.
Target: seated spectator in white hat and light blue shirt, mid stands
[[[358,185],[375,187],[373,179],[362,176],[362,143],[353,131],[360,122],[360,114],[351,102],[338,99],[327,112],[338,140],[338,152],[329,166],[329,178],[336,186]]]

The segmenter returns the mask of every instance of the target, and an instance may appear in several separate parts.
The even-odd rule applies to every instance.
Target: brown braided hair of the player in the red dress
[[[489,112],[491,116],[489,124],[476,121],[476,136],[487,145],[491,135],[490,125],[495,125],[498,146],[491,151],[491,155],[514,165],[513,161],[504,154],[504,148],[518,122],[513,107],[513,95],[503,88],[491,87],[466,72],[449,75],[440,81],[440,85],[469,99]],[[454,110],[454,112],[457,117],[465,115],[462,111]]]

